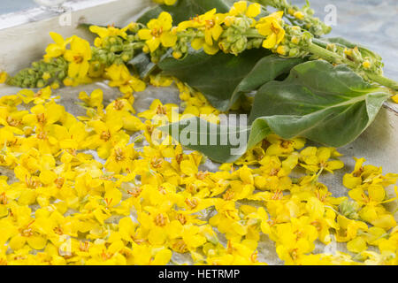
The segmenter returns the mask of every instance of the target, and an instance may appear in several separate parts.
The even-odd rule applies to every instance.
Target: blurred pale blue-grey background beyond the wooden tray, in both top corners
[[[87,0],[67,0],[84,2]],[[134,1],[134,0],[131,0]],[[23,12],[42,5],[58,5],[63,0],[0,0],[0,19],[11,12]],[[305,0],[292,0],[302,6]],[[310,0],[315,15],[325,19],[335,11],[336,25],[327,36],[342,36],[379,52],[388,77],[398,80],[398,0]],[[42,6],[43,8],[43,6]],[[0,27],[1,29],[1,27]]]

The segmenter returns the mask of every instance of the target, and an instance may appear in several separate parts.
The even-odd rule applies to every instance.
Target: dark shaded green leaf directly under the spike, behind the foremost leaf
[[[239,56],[219,52],[210,56],[190,50],[187,57],[165,57],[157,65],[166,75],[182,80],[203,93],[220,111],[231,108],[242,93],[256,90],[265,82],[302,63],[301,58],[282,58],[268,50],[246,50]]]

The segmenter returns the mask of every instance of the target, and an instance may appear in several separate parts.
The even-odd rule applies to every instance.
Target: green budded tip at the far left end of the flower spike
[[[63,57],[51,58],[32,63],[30,68],[21,70],[11,78],[9,84],[21,88],[43,88],[51,83],[60,84],[67,76],[68,63]]]

